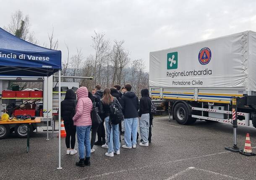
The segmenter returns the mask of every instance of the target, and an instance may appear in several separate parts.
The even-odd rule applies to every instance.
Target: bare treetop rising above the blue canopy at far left
[[[30,30],[29,15],[24,17],[21,10],[16,10],[11,15],[10,23],[4,29],[25,41],[38,44],[37,39],[34,37],[34,32]]]

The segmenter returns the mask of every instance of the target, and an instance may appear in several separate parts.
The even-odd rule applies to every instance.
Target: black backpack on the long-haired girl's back
[[[119,124],[123,121],[123,112],[115,101],[110,104],[110,122]]]

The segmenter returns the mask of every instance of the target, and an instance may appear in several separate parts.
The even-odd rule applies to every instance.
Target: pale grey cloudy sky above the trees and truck
[[[256,31],[255,0],[0,0],[0,27],[16,10],[29,15],[31,30],[42,45],[54,26],[63,60],[82,48],[93,53],[91,35],[104,32],[110,41],[125,40],[131,59],[149,52],[222,35]]]

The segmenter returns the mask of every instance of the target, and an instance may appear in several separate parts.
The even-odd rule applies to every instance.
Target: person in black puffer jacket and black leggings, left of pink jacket
[[[65,99],[61,101],[61,117],[64,121],[66,131],[66,147],[67,155],[74,155],[77,150],[74,149],[76,143],[76,126],[74,126],[73,117],[76,113],[76,93],[72,89],[68,89]],[[71,148],[70,148],[71,145]]]

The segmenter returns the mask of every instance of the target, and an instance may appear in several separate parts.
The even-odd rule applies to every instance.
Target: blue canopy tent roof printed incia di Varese
[[[26,42],[0,28],[0,75],[46,76],[61,69],[61,51]]]

